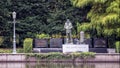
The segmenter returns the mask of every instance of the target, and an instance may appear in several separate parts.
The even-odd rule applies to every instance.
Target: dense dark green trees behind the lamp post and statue
[[[7,42],[13,37],[13,11],[17,13],[16,35],[21,46],[25,38],[35,38],[36,34],[64,33],[67,18],[75,33],[76,22],[82,22],[88,10],[73,7],[69,0],[1,0],[0,35],[8,37]]]

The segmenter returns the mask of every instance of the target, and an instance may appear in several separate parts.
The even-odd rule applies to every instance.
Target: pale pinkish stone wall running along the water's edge
[[[26,59],[25,54],[0,54],[0,62],[36,62],[38,61],[34,57]],[[41,62],[47,62],[48,60],[40,60]],[[49,60],[50,62],[120,62],[120,54],[118,53],[97,53],[95,58],[90,59],[68,59],[68,60]]]

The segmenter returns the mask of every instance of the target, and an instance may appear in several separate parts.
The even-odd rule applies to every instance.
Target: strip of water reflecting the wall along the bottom
[[[120,68],[119,63],[0,63],[0,68]]]

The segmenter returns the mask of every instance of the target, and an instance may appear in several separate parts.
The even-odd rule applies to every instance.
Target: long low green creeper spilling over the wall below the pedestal
[[[37,59],[75,59],[75,58],[88,59],[88,58],[94,58],[95,53],[78,52],[78,53],[63,54],[60,52],[51,52],[51,53],[31,53],[31,54],[26,54],[26,56],[35,57]]]

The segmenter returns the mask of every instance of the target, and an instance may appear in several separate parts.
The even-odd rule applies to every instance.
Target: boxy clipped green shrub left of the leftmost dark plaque
[[[33,44],[33,39],[26,38],[24,40],[24,44],[23,44],[24,53],[31,53],[32,52],[32,46],[33,46],[32,44]]]

